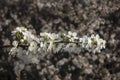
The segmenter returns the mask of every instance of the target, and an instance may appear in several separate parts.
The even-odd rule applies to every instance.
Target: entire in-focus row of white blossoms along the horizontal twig
[[[69,53],[80,53],[81,50],[89,52],[100,52],[105,48],[106,41],[101,39],[99,35],[83,36],[79,38],[76,32],[69,31],[65,33],[40,33],[39,37],[32,34],[24,27],[17,27],[13,32],[16,40],[13,41],[13,48],[10,54],[17,53],[13,51],[20,47],[19,45],[27,46],[25,54],[37,54],[48,52],[67,51]],[[12,52],[13,51],[13,52]]]

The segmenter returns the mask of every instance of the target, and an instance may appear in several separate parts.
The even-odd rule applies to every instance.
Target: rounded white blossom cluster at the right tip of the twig
[[[100,52],[101,49],[105,48],[106,41],[101,39],[99,35],[91,35],[90,37],[84,36],[79,39],[82,48],[89,52]]]

